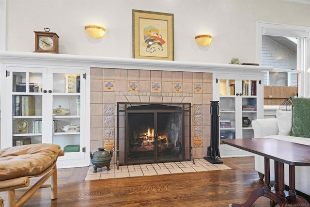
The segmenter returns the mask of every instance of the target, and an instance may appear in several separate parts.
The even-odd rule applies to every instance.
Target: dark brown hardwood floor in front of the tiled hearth
[[[25,207],[228,207],[244,203],[263,186],[253,157],[222,160],[232,170],[84,181],[88,167],[58,169],[58,198],[50,200],[50,189],[39,189]],[[17,198],[20,194],[16,191]],[[266,206],[269,199],[264,197],[252,205]]]

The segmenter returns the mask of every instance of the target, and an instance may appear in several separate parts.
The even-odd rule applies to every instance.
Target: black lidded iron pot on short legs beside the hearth
[[[99,147],[98,151],[94,152],[92,154],[92,152],[90,152],[91,155],[91,161],[93,164],[93,173],[97,173],[97,168],[99,167],[105,167],[107,166],[107,170],[110,170],[110,161],[112,159],[112,155],[113,155],[113,150],[111,149],[110,152],[108,152],[107,150],[105,150],[104,147]]]

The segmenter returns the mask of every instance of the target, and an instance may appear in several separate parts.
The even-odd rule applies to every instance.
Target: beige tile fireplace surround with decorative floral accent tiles
[[[136,87],[131,87],[136,85]],[[154,87],[159,86],[159,88]],[[116,148],[118,102],[191,103],[194,158],[210,145],[212,73],[91,68],[91,151]],[[120,126],[124,133],[124,126]],[[120,145],[124,143],[120,140]],[[122,156],[122,155],[120,155]],[[112,162],[116,163],[115,153]]]

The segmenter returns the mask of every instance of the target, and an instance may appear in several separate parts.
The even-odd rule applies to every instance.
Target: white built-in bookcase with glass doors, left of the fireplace
[[[35,143],[59,144],[64,167],[72,160],[86,160],[86,68],[3,65],[6,71],[6,106],[2,120],[1,148]],[[88,70],[89,71],[89,70]],[[3,96],[2,96],[3,97]],[[70,130],[71,124],[78,126]],[[67,150],[69,149],[69,150]],[[70,163],[71,162],[71,163]]]

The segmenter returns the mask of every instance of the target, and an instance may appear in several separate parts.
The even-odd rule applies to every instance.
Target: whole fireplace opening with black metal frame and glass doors
[[[124,146],[117,144],[124,164],[190,160],[190,103],[118,103],[117,115],[124,115]]]

